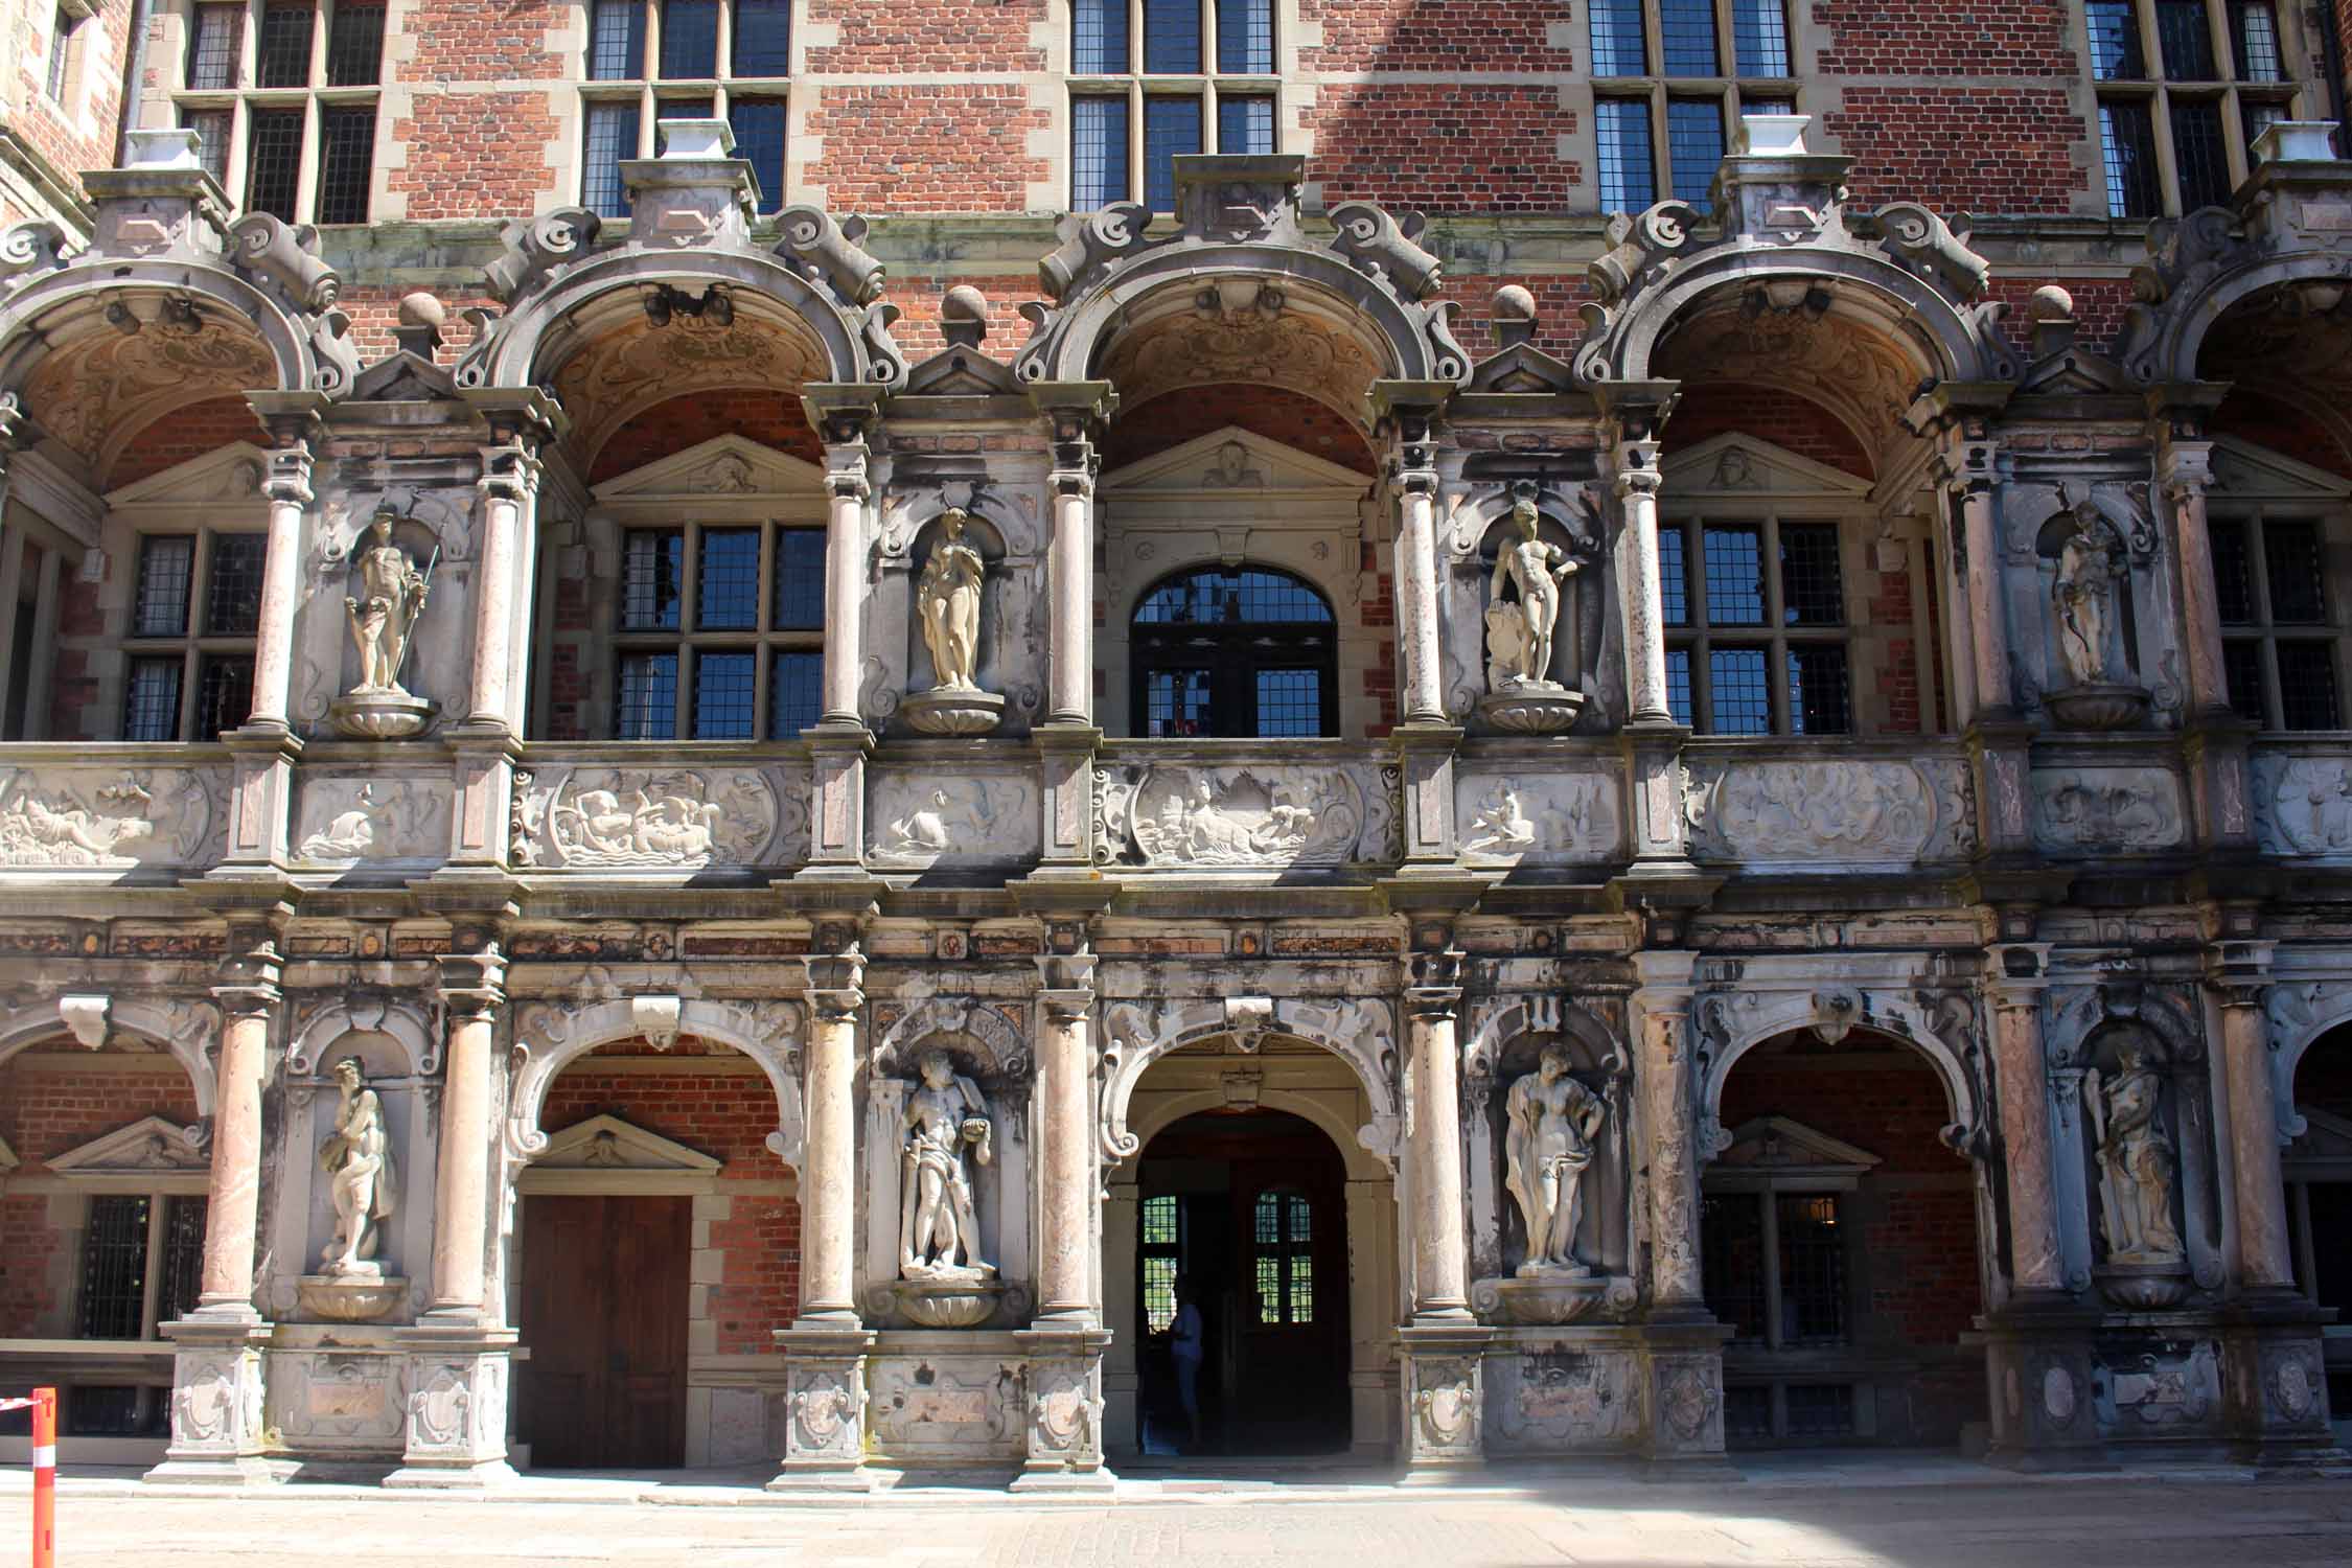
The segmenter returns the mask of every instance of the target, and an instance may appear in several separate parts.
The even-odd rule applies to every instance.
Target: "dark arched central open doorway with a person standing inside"
[[[1143,1150],[1141,1436],[1150,1455],[1348,1446],[1348,1171],[1312,1121],[1204,1112]],[[1188,1410],[1181,1319],[1197,1312]]]

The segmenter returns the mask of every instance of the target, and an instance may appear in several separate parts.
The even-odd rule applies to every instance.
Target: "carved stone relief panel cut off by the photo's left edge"
[[[0,769],[0,865],[129,870],[219,858],[209,769]]]

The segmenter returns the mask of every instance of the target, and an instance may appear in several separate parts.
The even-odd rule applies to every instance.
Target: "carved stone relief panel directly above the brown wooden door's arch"
[[[550,769],[522,797],[517,851],[562,870],[764,865],[795,806],[804,842],[807,795],[774,769]]]

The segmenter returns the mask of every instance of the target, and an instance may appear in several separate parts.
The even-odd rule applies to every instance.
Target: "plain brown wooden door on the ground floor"
[[[520,1436],[534,1469],[687,1462],[694,1199],[522,1199]]]

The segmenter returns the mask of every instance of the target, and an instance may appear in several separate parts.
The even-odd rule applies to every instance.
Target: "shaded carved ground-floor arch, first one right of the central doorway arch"
[[[1849,1030],[1870,1030],[1919,1051],[1943,1081],[1945,1105],[1952,1110],[1940,1133],[1943,1143],[1971,1161],[1985,1159],[1985,1091],[1969,1065],[1971,1051],[1966,1041],[1945,1039],[1943,1023],[1912,997],[1851,985],[1823,985],[1811,992],[1710,992],[1698,997],[1691,1013],[1693,1020],[1705,1018],[1710,1032],[1710,1039],[1693,1041],[1700,1051],[1696,1074],[1700,1159],[1715,1159],[1731,1147],[1731,1133],[1722,1124],[1724,1081],[1731,1067],[1766,1039],[1797,1030],[1813,1030],[1832,1041]]]

